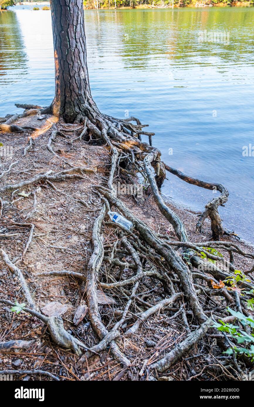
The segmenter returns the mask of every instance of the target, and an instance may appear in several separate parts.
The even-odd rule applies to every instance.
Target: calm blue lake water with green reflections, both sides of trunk
[[[85,11],[99,109],[138,117],[156,133],[153,144],[166,163],[224,184],[224,225],[252,242],[254,157],[244,157],[243,147],[254,146],[253,22],[253,7]],[[50,11],[16,6],[0,13],[0,84],[0,116],[20,112],[17,102],[51,103]],[[194,210],[214,197],[167,177],[163,193]]]

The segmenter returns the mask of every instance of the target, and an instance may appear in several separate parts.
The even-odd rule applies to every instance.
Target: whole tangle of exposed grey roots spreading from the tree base
[[[33,105],[19,106],[27,109],[23,115],[27,115],[27,112],[30,112],[30,114],[54,112],[55,109],[54,104],[46,109]],[[6,128],[12,131],[11,128],[15,127],[13,122],[19,117],[20,115],[10,116],[0,126],[7,126]],[[151,364],[146,359],[141,369],[142,374],[146,370],[150,371],[151,368],[158,373],[164,372],[197,344],[197,341],[205,337],[208,329],[213,325],[212,320],[224,318],[227,321],[229,316],[224,303],[248,315],[249,311],[241,296],[239,297],[236,291],[232,294],[232,291],[228,290],[230,286],[227,282],[225,282],[225,287],[220,286],[220,280],[234,276],[234,254],[249,259],[254,259],[254,254],[244,252],[235,243],[220,241],[225,230],[221,223],[218,207],[223,206],[227,201],[228,191],[226,188],[221,184],[209,184],[193,179],[163,164],[160,160],[160,151],[152,147],[151,137],[153,133],[143,131],[142,129],[146,125],[141,125],[137,118],[116,119],[101,114],[96,106],[88,104],[84,114],[73,117],[73,121],[80,124],[80,126],[62,124],[61,128],[57,128],[54,125],[45,145],[54,156],[57,154],[52,148],[52,142],[57,143],[58,135],[66,137],[62,131],[74,132],[75,129],[74,139],[71,140],[68,133],[68,140],[70,140],[72,146],[81,140],[93,144],[104,144],[111,157],[108,177],[102,177],[106,183],[91,186],[91,193],[98,198],[96,204],[98,206],[95,209],[97,215],[94,218],[91,237],[92,254],[87,267],[84,265],[78,272],[71,270],[49,271],[37,273],[37,276],[63,276],[80,280],[82,288],[85,290],[89,320],[99,338],[98,343],[88,348],[82,341],[65,330],[61,317],[46,317],[36,311],[22,271],[11,262],[4,250],[1,249],[2,258],[5,265],[13,274],[18,276],[21,282],[24,298],[29,304],[29,308],[24,308],[24,311],[44,322],[52,339],[59,346],[73,350],[80,357],[76,364],[77,368],[81,367],[89,357],[110,348],[113,357],[130,372],[133,366],[131,359],[126,356],[124,348],[125,341],[130,339],[129,336],[135,337],[139,330],[146,326],[148,318],[153,317],[155,314],[167,317],[167,321],[170,321],[170,323],[176,317],[181,317],[183,327],[185,327],[184,335],[186,333],[188,335],[170,352],[166,354],[164,352],[164,356],[160,355],[159,360],[157,360],[157,357],[157,359],[152,360]],[[133,121],[136,124],[131,123]],[[76,137],[78,131],[80,131],[80,136]],[[150,145],[141,141],[142,135],[149,137]],[[24,155],[31,147],[32,141],[29,139],[29,144],[24,149]],[[58,159],[58,156],[54,158]],[[13,165],[11,164],[11,166]],[[2,176],[9,173],[11,166],[2,173]],[[205,206],[205,211],[201,214],[197,223],[197,229],[202,233],[203,221],[209,217],[212,237],[215,241],[201,243],[190,241],[183,222],[165,204],[161,196],[160,188],[166,177],[165,168],[190,184],[210,190],[215,187],[220,191],[221,195],[212,199]],[[71,166],[71,168],[57,173],[49,170],[15,184],[5,184],[0,188],[0,192],[9,193],[11,190],[45,181],[57,193],[79,201],[89,210],[89,205],[80,196],[72,197],[71,194],[62,192],[52,183],[52,181],[84,179],[85,174],[89,172],[95,173],[93,169],[83,166]],[[144,182],[149,184],[160,212],[174,229],[177,241],[172,240],[167,235],[156,233],[146,223],[138,219],[117,197],[117,192],[114,189],[115,180],[133,184],[137,173],[140,173],[144,178]],[[37,206],[36,190],[31,193],[31,196],[33,197],[33,207],[24,215],[24,221],[33,217]],[[3,206],[4,201],[0,199],[0,214],[2,214]],[[122,214],[133,223],[133,228],[127,231],[120,224],[108,222],[106,214],[108,210],[116,210]],[[35,227],[33,223],[19,223],[19,225],[29,225],[30,227],[29,238],[22,252],[22,257],[24,257],[33,239]],[[104,243],[102,234],[105,228],[113,230],[112,233],[115,238],[113,243]],[[57,248],[57,246],[51,247]],[[212,253],[211,247],[224,250],[229,259]],[[209,263],[209,269],[207,269],[208,261],[201,258],[201,252],[205,254],[207,260],[215,262]],[[224,261],[223,267],[217,264],[221,260]],[[252,273],[253,269],[254,267],[247,273]],[[215,285],[218,288],[215,289]],[[241,282],[241,287],[252,289],[252,280]],[[99,290],[107,290],[113,298],[118,298],[117,308],[110,309],[110,306],[108,307],[109,312],[114,315],[114,318],[108,324],[106,324],[101,307],[99,307]],[[160,299],[153,300],[152,293],[154,291],[159,293]],[[246,298],[250,298],[248,293],[246,293]],[[0,302],[11,306],[14,305],[13,302],[8,300],[0,300]],[[212,308],[208,307],[208,304],[211,303],[214,303],[212,311]],[[230,318],[230,322],[232,322],[232,317],[230,316]],[[193,326],[195,330],[193,330]],[[211,328],[209,335],[218,336],[219,334],[218,331]],[[117,341],[119,338],[121,340]],[[230,346],[223,335],[219,335],[218,339],[221,341],[220,345],[224,348]],[[163,357],[161,358],[161,356]]]

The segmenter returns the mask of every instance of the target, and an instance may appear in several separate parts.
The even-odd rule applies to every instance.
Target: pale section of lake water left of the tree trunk
[[[54,93],[51,14],[24,10],[0,13],[0,113],[20,112],[15,103],[46,105]]]

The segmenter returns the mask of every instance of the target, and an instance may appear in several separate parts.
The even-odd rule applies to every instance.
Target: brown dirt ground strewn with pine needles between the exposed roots
[[[17,190],[2,192],[0,247],[22,270],[38,309],[42,310],[49,302],[64,304],[66,311],[62,318],[66,330],[80,338],[90,348],[98,343],[98,338],[93,333],[88,315],[80,324],[73,324],[75,310],[86,303],[84,284],[71,277],[39,274],[60,270],[85,272],[91,256],[91,230],[100,208],[99,199],[93,193],[92,186],[106,185],[110,156],[103,146],[98,147],[80,140],[74,141],[79,134],[79,125],[76,126],[77,133],[68,132],[68,126],[62,125],[66,138],[57,136],[52,142],[51,147],[56,153],[53,154],[46,146],[54,121],[55,118],[50,116],[46,116],[44,120],[33,118],[32,122],[31,118],[23,118],[22,122],[15,124],[30,123],[40,127],[40,130],[0,134],[3,146],[13,148],[12,157],[1,157],[0,173],[15,162],[10,171],[0,178],[1,186],[31,179],[49,170],[58,173],[71,166],[85,166],[94,171],[80,179],[52,181],[51,184],[42,179]],[[24,155],[30,136],[33,139],[32,147]],[[170,176],[173,175],[168,175]],[[136,201],[133,197],[123,195],[121,199],[139,219],[156,232],[168,233],[175,237],[172,227],[159,212],[149,188],[143,198]],[[201,236],[195,232],[197,213],[181,208],[170,200],[166,202],[183,221],[192,241],[209,240],[211,234],[209,221],[205,221],[207,235]],[[22,223],[25,225],[21,225]],[[34,225],[32,240],[23,255],[32,225]],[[103,237],[104,246],[113,247],[115,243],[113,229],[105,223]],[[227,241],[230,239],[235,242],[234,238],[225,238]],[[253,247],[244,242],[240,242],[239,246],[245,252],[253,252]],[[240,256],[235,255],[236,269],[246,271],[251,269],[252,263],[253,260],[245,258],[243,261]],[[124,272],[128,276],[128,270]],[[153,298],[150,300],[156,303],[158,298],[161,299],[161,288],[157,281],[152,287],[150,284],[148,282],[148,290],[153,290]],[[110,293],[108,290],[102,291],[105,301],[102,299],[100,304],[101,314],[108,329],[116,318],[114,311],[118,309],[121,294],[124,295],[121,290],[118,291],[115,298],[112,291]],[[107,295],[111,302],[107,300]],[[4,263],[0,266],[0,298],[18,303],[24,301],[18,278],[13,276]],[[149,367],[153,361],[163,357],[186,336],[186,328],[181,317],[172,320],[170,313],[155,314],[140,326],[137,334],[123,337],[124,339],[117,342],[135,369],[121,368],[109,349],[96,354],[77,367],[79,358],[71,350],[58,347],[52,341],[43,322],[25,312],[17,314],[9,310],[9,306],[0,304],[0,342],[22,339],[31,340],[32,343],[25,350],[0,350],[0,371],[40,369],[51,372],[60,380],[148,380],[148,371],[146,370],[146,374],[142,372],[144,361]],[[133,324],[133,321],[127,321],[128,324]],[[218,367],[221,354],[221,350],[214,343],[214,338],[211,337],[206,344],[200,341],[172,367],[172,370],[159,375],[158,379],[179,381],[194,379],[194,376],[198,375],[199,380],[230,380],[232,378],[227,377],[227,374]],[[211,368],[211,365],[216,363],[217,367]],[[20,373],[15,375],[15,380],[52,380],[52,378],[45,374]]]

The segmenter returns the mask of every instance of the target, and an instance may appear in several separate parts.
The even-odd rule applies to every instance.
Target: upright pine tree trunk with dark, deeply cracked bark
[[[55,57],[55,98],[52,113],[73,123],[78,115],[97,111],[86,62],[82,0],[51,0]]]

